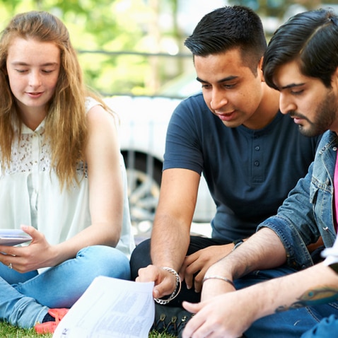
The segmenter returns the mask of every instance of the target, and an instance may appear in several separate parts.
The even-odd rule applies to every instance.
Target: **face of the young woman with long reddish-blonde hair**
[[[16,37],[8,48],[6,70],[21,114],[45,112],[60,71],[60,49],[53,42]]]

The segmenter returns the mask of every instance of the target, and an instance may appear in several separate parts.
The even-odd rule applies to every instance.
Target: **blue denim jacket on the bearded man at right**
[[[332,247],[336,238],[333,177],[337,147],[337,134],[325,132],[308,174],[291,190],[277,214],[257,228],[271,228],[279,235],[286,249],[287,264],[295,269],[313,265],[306,246],[315,243],[320,235],[325,247]]]

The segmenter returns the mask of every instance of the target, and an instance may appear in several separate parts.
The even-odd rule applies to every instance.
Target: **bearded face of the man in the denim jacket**
[[[305,136],[322,134],[328,129],[338,132],[337,84],[324,86],[318,78],[301,74],[298,62],[279,66],[274,83],[281,93],[279,107],[289,114]]]

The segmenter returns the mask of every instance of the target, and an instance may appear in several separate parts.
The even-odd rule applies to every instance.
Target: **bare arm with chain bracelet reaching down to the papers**
[[[180,271],[190,243],[190,226],[197,201],[200,176],[187,169],[163,171],[161,193],[151,233],[153,264],[139,270],[137,281],[155,281],[153,296],[161,298],[175,290],[174,275]]]

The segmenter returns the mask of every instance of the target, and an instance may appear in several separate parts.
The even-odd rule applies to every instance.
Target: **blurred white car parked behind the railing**
[[[127,167],[132,223],[136,234],[148,233],[158,204],[165,134],[180,99],[116,95],[105,98],[105,102],[120,117],[120,146]],[[194,222],[209,223],[215,211],[202,177]]]

